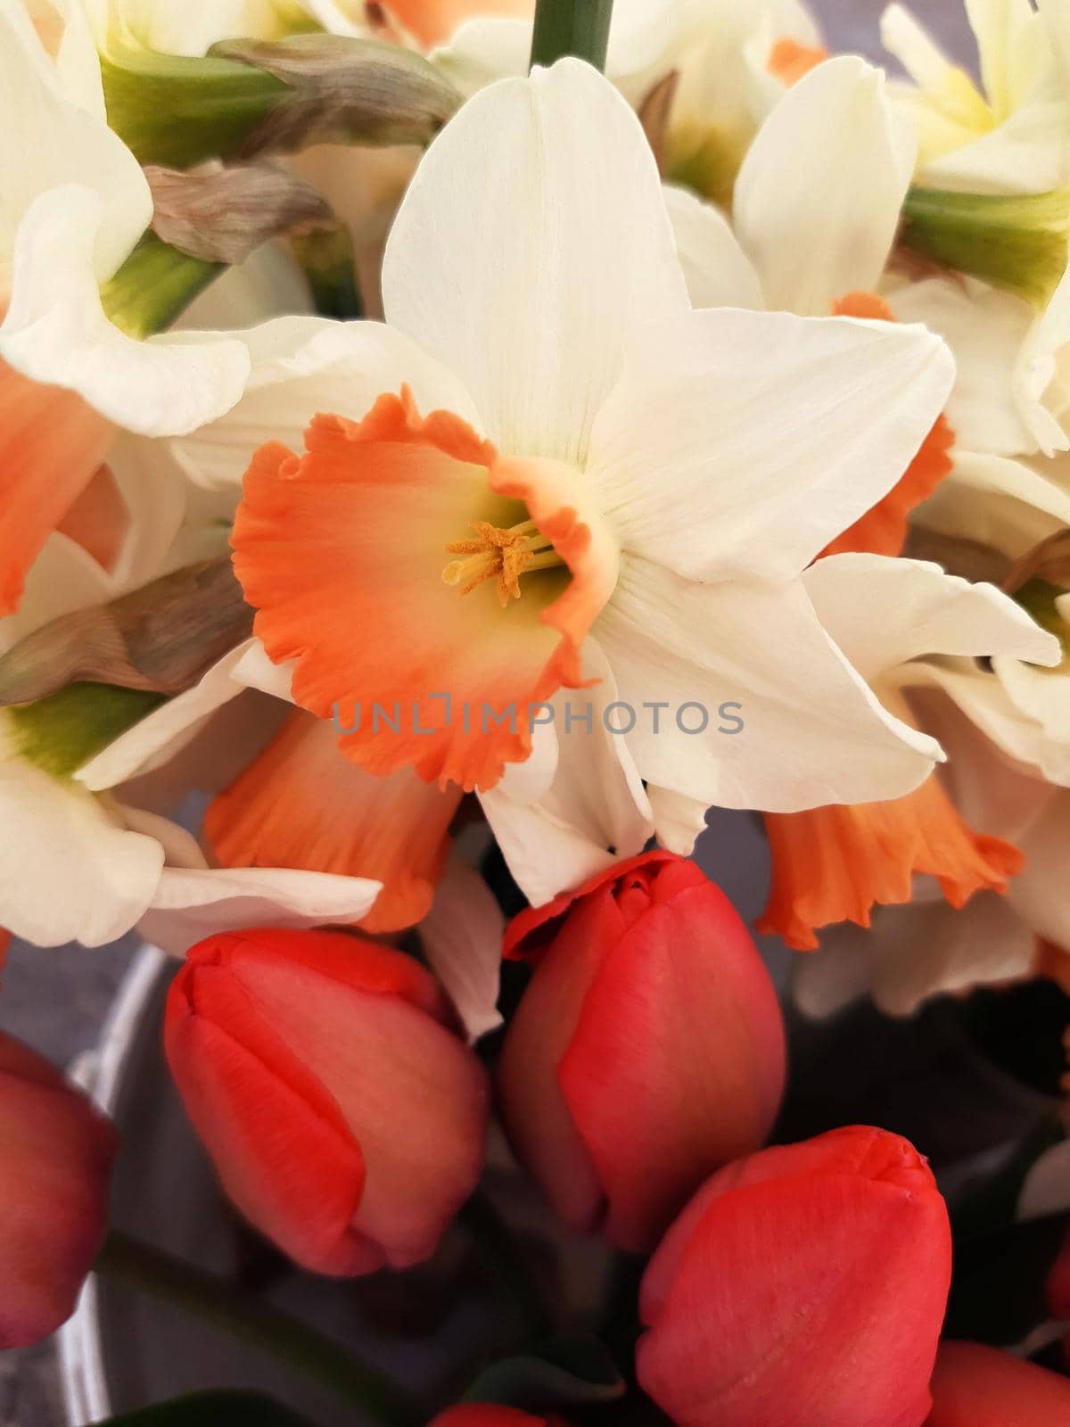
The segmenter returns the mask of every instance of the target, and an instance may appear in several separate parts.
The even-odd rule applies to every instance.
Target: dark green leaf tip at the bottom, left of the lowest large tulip
[[[538,1353],[502,1359],[479,1374],[465,1401],[551,1411],[612,1403],[623,1394],[625,1380],[605,1343],[575,1337],[554,1339]]]

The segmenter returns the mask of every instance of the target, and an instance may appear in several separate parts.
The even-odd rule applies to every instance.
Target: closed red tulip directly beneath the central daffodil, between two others
[[[783,1020],[755,945],[695,863],[651,852],[522,912],[505,953],[536,962],[501,1060],[512,1146],[568,1224],[649,1251],[776,1116]]]

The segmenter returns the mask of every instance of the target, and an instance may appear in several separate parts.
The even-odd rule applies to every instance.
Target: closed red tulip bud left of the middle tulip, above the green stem
[[[484,1070],[411,956],[345,932],[194,946],[167,1057],[241,1212],[318,1273],[427,1259],[484,1160]]]

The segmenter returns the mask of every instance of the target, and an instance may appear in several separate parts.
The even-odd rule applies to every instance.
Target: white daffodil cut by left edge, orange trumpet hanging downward
[[[134,156],[104,118],[81,9],[43,26],[0,0],[0,614],[53,529],[84,529],[107,499],[91,489],[118,431],[188,431],[241,394],[250,358],[225,334],[136,340],[101,285],[153,215]],[[53,59],[54,56],[54,59]]]

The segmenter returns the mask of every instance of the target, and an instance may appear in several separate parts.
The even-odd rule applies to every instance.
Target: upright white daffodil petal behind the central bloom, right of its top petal
[[[732,208],[766,307],[826,317],[836,298],[876,288],[916,148],[883,73],[855,56],[788,90],[743,160]]]

